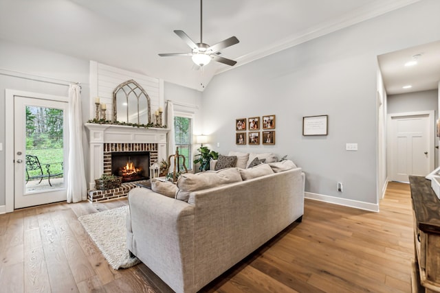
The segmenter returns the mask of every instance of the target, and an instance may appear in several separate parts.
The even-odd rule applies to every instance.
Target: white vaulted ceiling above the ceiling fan
[[[234,67],[210,62],[203,72],[189,57],[157,56],[190,52],[173,30],[199,42],[199,0],[0,0],[0,39],[202,91],[217,73],[417,1],[205,0],[203,43],[230,36],[240,43],[221,51]]]

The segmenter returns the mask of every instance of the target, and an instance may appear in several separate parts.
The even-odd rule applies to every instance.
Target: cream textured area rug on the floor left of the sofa
[[[115,270],[130,268],[140,262],[137,257],[130,257],[129,248],[126,246],[127,213],[129,206],[82,215],[78,218]]]

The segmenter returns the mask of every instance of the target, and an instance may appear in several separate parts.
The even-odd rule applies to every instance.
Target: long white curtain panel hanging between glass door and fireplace
[[[67,174],[67,202],[87,200],[83,155],[83,115],[78,84],[69,86],[69,172]]]

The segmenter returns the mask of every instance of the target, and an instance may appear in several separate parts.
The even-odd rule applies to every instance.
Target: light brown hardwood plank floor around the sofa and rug
[[[58,203],[0,215],[0,292],[172,292],[144,264],[113,270],[78,222],[127,204]],[[410,292],[409,185],[380,213],[305,201],[292,224],[201,292]]]

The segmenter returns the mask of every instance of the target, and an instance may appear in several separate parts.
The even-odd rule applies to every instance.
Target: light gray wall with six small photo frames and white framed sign
[[[421,1],[217,75],[203,92],[204,131],[220,143],[212,148],[288,154],[306,191],[376,204],[377,55],[439,40],[439,11],[440,1]],[[235,145],[236,118],[272,114],[276,145]],[[329,115],[327,136],[303,137],[310,115]]]

